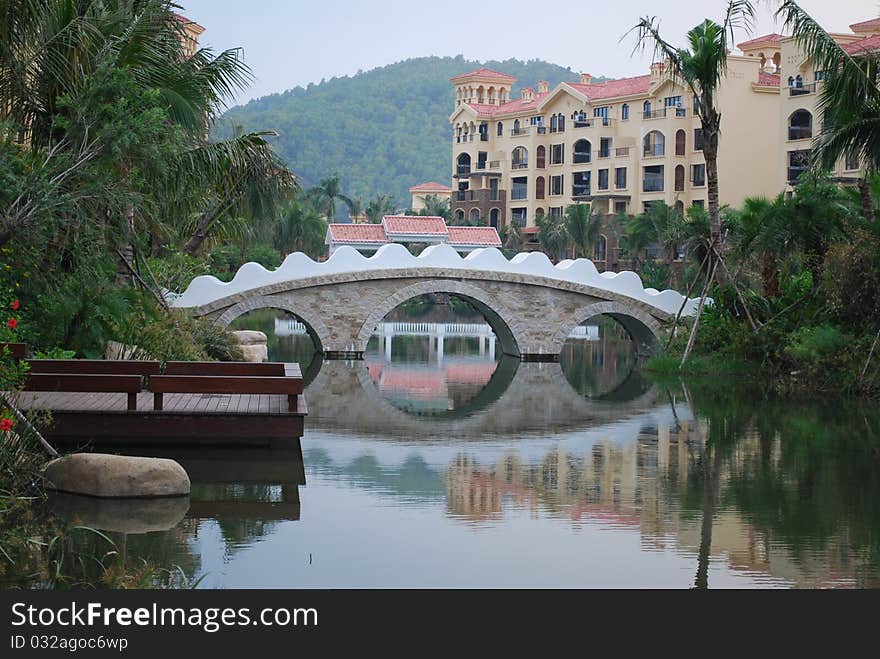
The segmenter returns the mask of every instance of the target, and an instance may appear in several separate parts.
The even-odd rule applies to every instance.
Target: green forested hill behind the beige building
[[[518,85],[551,88],[577,81],[578,72],[540,60],[475,62],[422,57],[355,76],[296,87],[231,109],[217,134],[233,126],[275,130],[281,155],[305,186],[338,173],[343,192],[365,202],[390,194],[401,208],[409,188],[425,181],[449,184],[452,162],[449,79],[482,66],[516,76]],[[519,96],[514,87],[511,98]]]

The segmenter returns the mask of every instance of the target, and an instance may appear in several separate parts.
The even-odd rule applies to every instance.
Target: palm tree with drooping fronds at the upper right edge
[[[845,155],[858,155],[865,166],[865,176],[858,181],[862,208],[865,218],[873,222],[876,215],[868,178],[880,171],[880,50],[848,53],[792,0],[780,2],[776,17],[816,70],[825,71],[817,104],[823,122],[813,149],[814,163],[833,169]]]

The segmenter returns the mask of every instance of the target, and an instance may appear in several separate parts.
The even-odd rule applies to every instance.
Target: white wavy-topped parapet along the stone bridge
[[[277,270],[266,270],[257,263],[243,265],[232,281],[221,282],[216,277],[196,277],[182,295],[169,294],[171,306],[196,308],[224,298],[256,290],[264,286],[296,280],[337,275],[388,270],[418,270],[424,277],[432,274],[449,276],[450,271],[468,270],[487,273],[509,273],[524,277],[545,278],[590,286],[647,304],[668,315],[678,313],[685,298],[677,291],[658,291],[645,288],[641,278],[634,272],[599,273],[592,261],[578,259],[562,261],[553,265],[546,255],[534,252],[518,254],[507,260],[500,250],[480,249],[462,257],[449,245],[433,245],[419,256],[413,256],[398,244],[381,247],[372,257],[365,257],[351,247],[340,247],[322,263],[297,252],[288,256]],[[698,299],[684,304],[684,316],[696,313]]]

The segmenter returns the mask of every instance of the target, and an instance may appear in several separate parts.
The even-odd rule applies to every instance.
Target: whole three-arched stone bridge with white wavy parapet
[[[470,302],[501,350],[523,358],[558,355],[575,327],[602,314],[623,325],[644,354],[682,306],[692,315],[697,304],[645,289],[631,272],[600,274],[584,259],[553,265],[533,253],[508,261],[496,249],[463,258],[445,245],[416,257],[388,245],[370,258],[340,248],[323,263],[292,254],[275,271],[249,263],[228,283],[198,277],[172,305],[224,326],[250,311],[281,309],[302,320],[324,353],[357,356],[389,312],[430,293]]]

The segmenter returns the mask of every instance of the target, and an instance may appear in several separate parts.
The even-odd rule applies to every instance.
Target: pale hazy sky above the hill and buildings
[[[727,5],[726,0],[177,2],[187,16],[207,28],[203,45],[244,49],[257,80],[239,101],[427,55],[543,59],[594,75],[641,75],[648,56],[631,55],[632,37],[620,43],[639,16],[659,15],[666,39],[679,42],[704,17],[720,18]],[[755,36],[779,31],[770,9],[776,4],[757,0],[760,19]],[[831,31],[880,16],[877,0],[802,0],[800,4]]]

